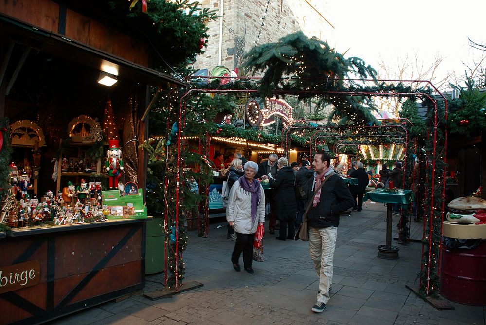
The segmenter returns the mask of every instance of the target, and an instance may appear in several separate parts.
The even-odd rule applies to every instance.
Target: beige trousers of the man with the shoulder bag
[[[314,228],[309,226],[309,251],[319,276],[317,301],[327,304],[332,284],[334,248],[336,248],[337,227]]]

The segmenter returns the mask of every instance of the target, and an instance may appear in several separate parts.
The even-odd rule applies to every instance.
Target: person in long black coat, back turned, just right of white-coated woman
[[[287,158],[282,157],[277,161],[277,178],[270,178],[270,185],[275,188],[275,207],[277,219],[280,221],[280,230],[277,239],[294,239],[294,219],[297,213],[294,184],[295,175],[292,167],[288,166]],[[288,234],[287,234],[288,225]]]

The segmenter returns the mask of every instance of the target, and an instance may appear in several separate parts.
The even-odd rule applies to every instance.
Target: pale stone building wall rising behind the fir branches
[[[326,0],[307,0],[324,17]],[[230,70],[239,67],[241,54],[255,44],[276,42],[281,37],[302,30],[307,36],[334,42],[333,28],[312,9],[305,0],[270,0],[262,27],[262,17],[268,0],[201,0],[202,7],[216,9],[219,15],[223,2],[222,49],[219,52],[220,19],[208,23],[209,39],[206,52],[199,55],[193,64],[196,69],[208,69],[221,65]],[[326,17],[327,20],[332,19]],[[261,35],[258,34],[261,30]],[[255,43],[255,41],[258,42]],[[240,71],[241,75],[241,71]]]

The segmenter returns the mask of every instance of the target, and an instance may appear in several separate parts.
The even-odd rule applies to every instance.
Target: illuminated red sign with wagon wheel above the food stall
[[[275,115],[283,119],[286,125],[294,120],[292,117],[292,106],[286,101],[277,98],[266,98],[262,105],[261,99],[250,98],[246,105],[246,119],[251,126],[267,126],[275,123]]]

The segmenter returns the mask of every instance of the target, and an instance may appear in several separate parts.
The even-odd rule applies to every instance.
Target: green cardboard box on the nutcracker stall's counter
[[[103,191],[103,204],[108,207],[107,219],[145,219],[147,218],[147,207],[144,205],[142,189],[134,195],[120,196],[120,191]],[[119,207],[120,215],[113,215],[111,207]],[[115,209],[118,214],[118,209]],[[126,214],[128,213],[128,214]]]

